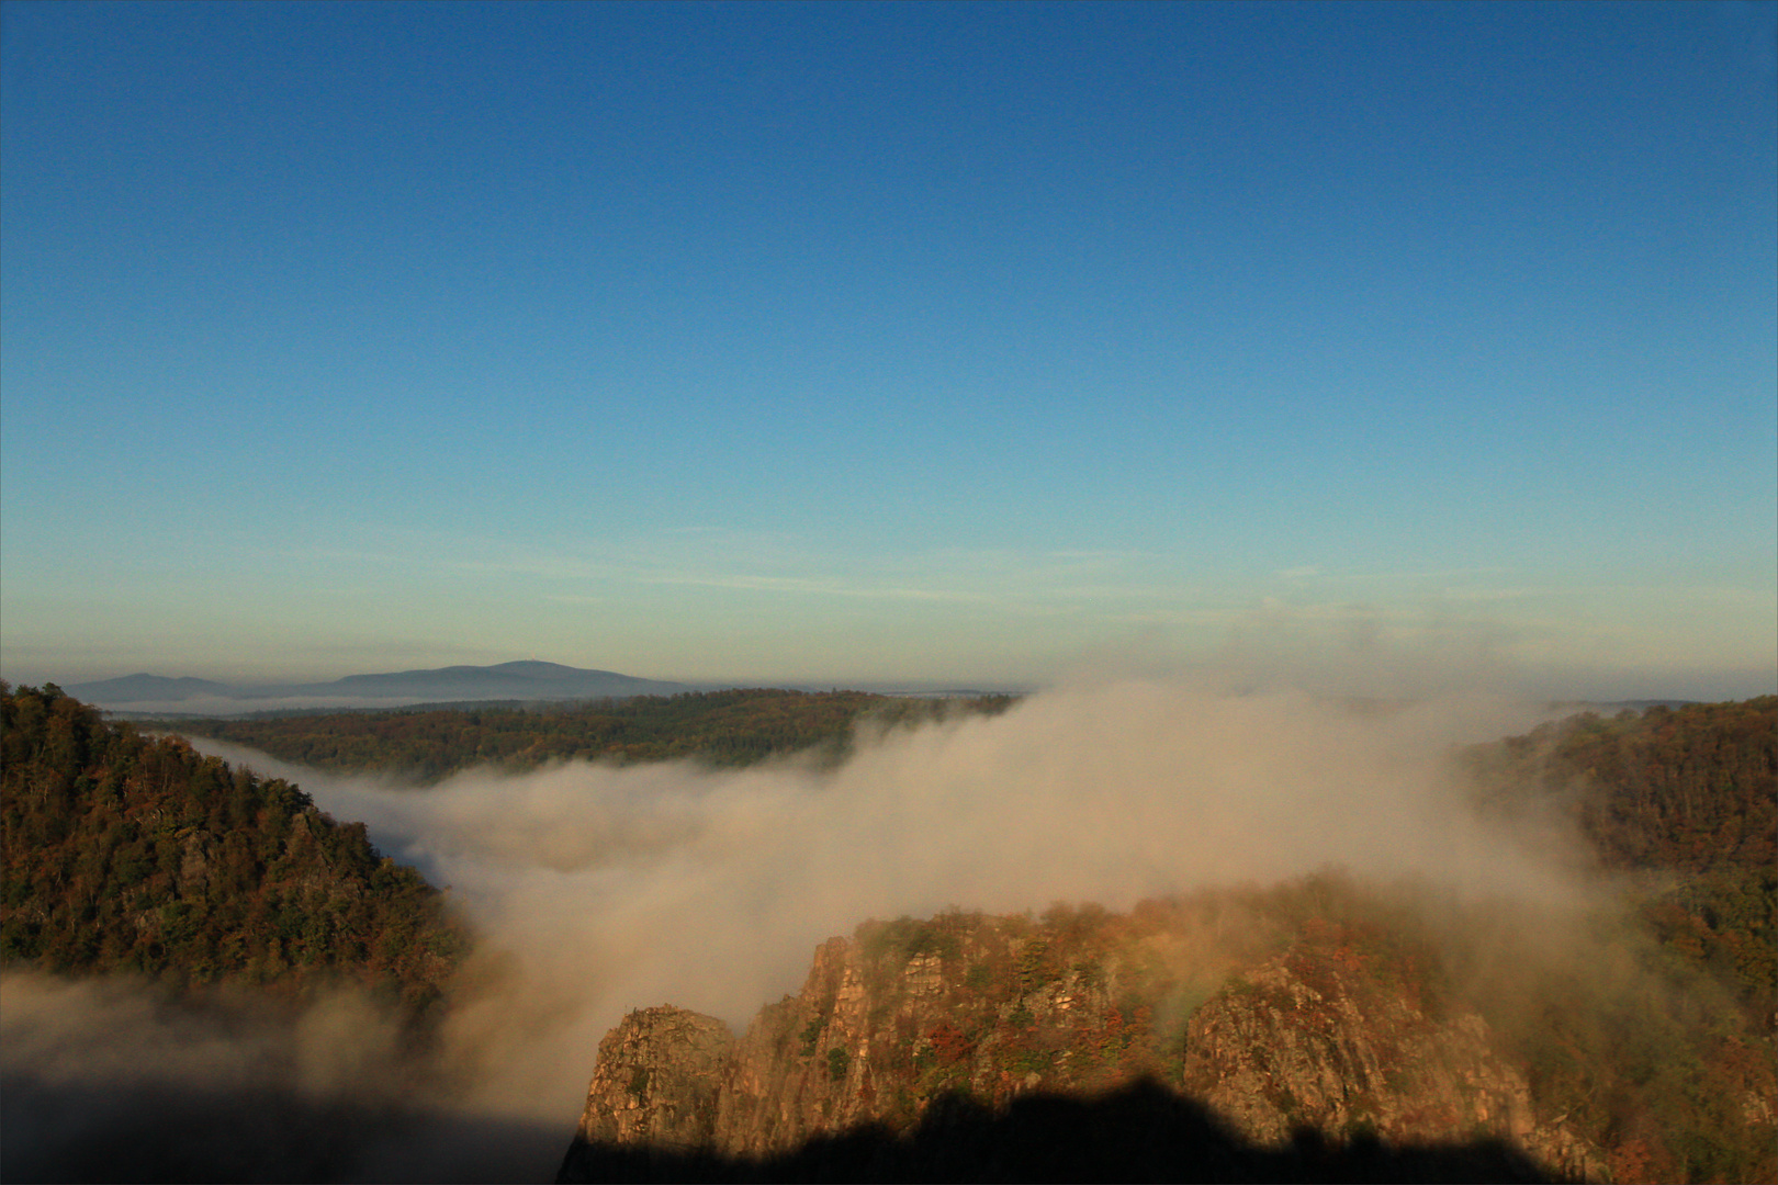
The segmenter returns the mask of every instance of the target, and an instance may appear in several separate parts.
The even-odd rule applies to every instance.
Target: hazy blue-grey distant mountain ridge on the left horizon
[[[347,675],[331,682],[233,686],[210,679],[123,675],[68,688],[89,704],[183,704],[188,700],[370,700],[384,705],[452,700],[594,700],[631,695],[676,695],[690,684],[638,679],[605,670],[581,670],[535,659],[494,666],[441,666],[434,670]]]

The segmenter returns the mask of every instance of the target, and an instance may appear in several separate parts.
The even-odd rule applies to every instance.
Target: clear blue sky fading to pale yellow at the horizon
[[[4,673],[1771,691],[1774,27],[5,4]]]

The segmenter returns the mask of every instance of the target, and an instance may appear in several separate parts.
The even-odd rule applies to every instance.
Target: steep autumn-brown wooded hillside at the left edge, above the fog
[[[281,780],[5,684],[0,963],[300,995],[350,981],[420,1018],[468,949],[443,895]]]

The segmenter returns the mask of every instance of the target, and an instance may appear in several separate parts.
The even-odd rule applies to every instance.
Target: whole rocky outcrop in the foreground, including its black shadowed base
[[[1236,968],[1198,920],[866,924],[740,1038],[631,1013],[558,1180],[1598,1174],[1474,1013],[1337,942]]]

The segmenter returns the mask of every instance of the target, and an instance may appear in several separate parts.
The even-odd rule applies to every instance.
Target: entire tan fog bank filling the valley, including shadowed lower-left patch
[[[119,1080],[156,1082],[164,1094],[240,1082],[293,1089],[318,1114],[389,1121],[329,1160],[329,1173],[388,1180],[409,1174],[395,1165],[423,1164],[412,1176],[487,1178],[487,1158],[402,1151],[427,1132],[437,1148],[448,1109],[459,1130],[485,1133],[523,1165],[519,1176],[546,1178],[597,1041],[626,1011],[670,1000],[745,1025],[797,990],[820,940],[868,917],[1042,910],[1058,899],[1124,908],[1328,865],[1574,903],[1563,844],[1526,844],[1479,821],[1447,766],[1453,744],[1538,718],[1492,698],[1355,709],[1099,682],[1035,695],[1003,716],[891,732],[829,771],[797,760],[740,771],[571,764],[471,771],[430,791],[201,743],[297,782],[338,819],[366,821],[382,851],[450,887],[482,934],[471,990],[446,1029],[444,1061],[466,1086],[434,1103],[391,1103],[375,1070],[386,1034],[348,1004],[276,1038],[194,1036],[199,1020],[117,986],[12,977],[7,1144],[27,1121],[53,1119],[62,1133],[80,1123],[16,1105],[30,1075],[62,1100],[82,1089],[112,1098]],[[27,1027],[55,1043],[18,1039]]]

